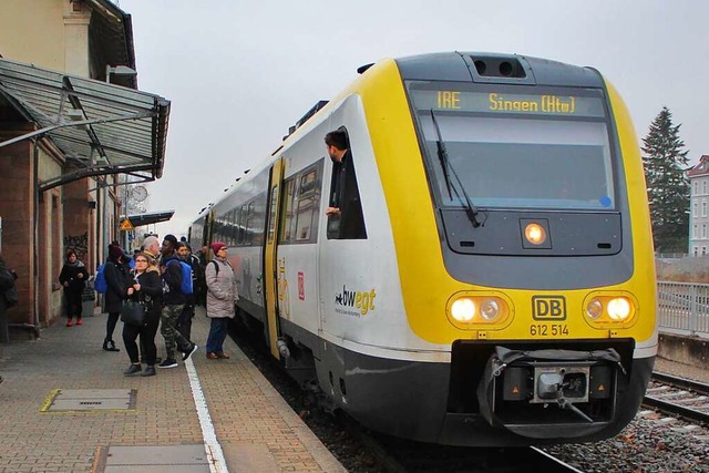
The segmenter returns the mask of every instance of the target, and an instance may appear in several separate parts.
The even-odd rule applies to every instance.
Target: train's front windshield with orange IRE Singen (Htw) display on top
[[[410,84],[439,204],[615,208],[602,92],[520,89]]]

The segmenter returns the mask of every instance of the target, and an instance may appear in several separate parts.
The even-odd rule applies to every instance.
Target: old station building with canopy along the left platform
[[[93,274],[122,239],[125,185],[162,176],[169,101],[136,74],[131,16],[111,1],[0,3],[0,253],[20,299],[0,343],[61,316],[65,253]]]

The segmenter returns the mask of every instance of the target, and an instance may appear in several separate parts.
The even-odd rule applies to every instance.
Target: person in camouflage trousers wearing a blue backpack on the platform
[[[175,368],[175,348],[183,353],[182,360],[187,361],[197,351],[197,346],[185,338],[177,330],[177,318],[182,313],[187,295],[192,294],[192,269],[182,261],[175,253],[177,238],[165,235],[161,254],[160,270],[163,275],[163,311],[161,313],[160,332],[165,339],[166,358],[158,368]]]

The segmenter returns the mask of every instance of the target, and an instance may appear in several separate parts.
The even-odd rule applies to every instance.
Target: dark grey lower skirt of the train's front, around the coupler
[[[526,426],[535,435],[524,436],[487,423],[476,409],[476,400],[469,399],[466,408],[452,407],[455,394],[451,391],[456,390],[455,383],[476,385],[480,378],[456,380],[451,376],[451,363],[384,359],[322,340],[321,343],[320,359],[315,360],[318,381],[337,407],[378,432],[450,445],[576,443],[609,438],[635,417],[654,364],[653,358],[626,360],[629,370],[616,388],[612,419],[594,424],[538,422]],[[548,432],[558,435],[549,436]],[[545,438],[534,438],[540,433]]]

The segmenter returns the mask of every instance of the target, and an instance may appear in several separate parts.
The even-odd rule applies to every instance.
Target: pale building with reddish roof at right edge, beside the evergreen
[[[689,256],[705,256],[709,251],[709,155],[689,169]]]

